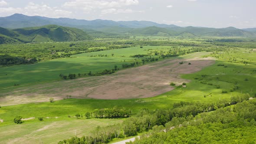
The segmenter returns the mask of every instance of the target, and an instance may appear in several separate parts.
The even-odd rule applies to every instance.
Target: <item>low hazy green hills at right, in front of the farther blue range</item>
[[[105,29],[99,29],[99,30],[107,32],[105,31]],[[115,27],[115,29],[112,28],[111,31],[112,33],[115,32],[115,33],[127,33],[132,35],[151,35],[151,36],[243,36],[243,37],[256,36],[256,33],[248,32],[242,29],[236,29],[233,27],[227,27],[222,29],[193,27],[193,26],[172,27],[172,28],[161,28],[156,26],[150,26],[150,27],[136,28],[136,29]]]

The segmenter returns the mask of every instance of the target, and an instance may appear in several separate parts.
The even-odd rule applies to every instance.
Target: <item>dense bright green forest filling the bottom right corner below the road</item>
[[[233,108],[202,113],[197,119],[175,118],[166,127],[154,127],[150,136],[129,144],[210,144],[256,141],[256,100],[243,101]],[[165,132],[164,132],[165,131]]]

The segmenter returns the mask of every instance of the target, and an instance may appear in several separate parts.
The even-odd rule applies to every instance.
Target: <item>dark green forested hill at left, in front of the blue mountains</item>
[[[31,42],[67,42],[91,39],[81,29],[47,25],[22,29],[5,29],[0,27],[0,44]]]

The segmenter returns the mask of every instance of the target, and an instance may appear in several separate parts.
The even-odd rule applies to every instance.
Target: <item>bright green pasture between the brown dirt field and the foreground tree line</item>
[[[0,125],[13,124],[12,120],[15,115],[21,115],[24,118],[59,117],[58,119],[54,119],[54,121],[59,121],[68,120],[68,115],[75,115],[76,113],[84,114],[86,111],[93,111],[97,108],[112,108],[115,105],[131,109],[132,113],[135,114],[141,108],[149,108],[152,110],[171,108],[175,102],[179,101],[212,103],[220,99],[229,100],[230,96],[244,95],[246,93],[250,96],[254,96],[256,93],[256,72],[254,71],[256,65],[254,55],[255,53],[248,53],[248,57],[252,57],[253,61],[247,65],[226,62],[220,59],[217,60],[215,64],[208,66],[200,72],[181,75],[182,78],[191,80],[190,83],[187,83],[186,88],[176,88],[173,91],[152,98],[119,100],[71,98],[55,101],[54,103],[42,102],[4,106],[0,109],[0,118],[3,119],[4,122],[0,123]],[[225,54],[224,57],[226,56],[229,56],[229,54]],[[189,58],[190,55],[184,57]],[[237,57],[239,58],[239,55],[237,55]],[[217,66],[218,64],[224,64],[226,67]],[[211,83],[212,85],[201,82]],[[217,88],[216,85],[219,85],[220,88]],[[237,86],[238,89],[231,92],[230,89],[234,86]],[[227,91],[227,93],[222,93],[222,91]],[[204,95],[206,95],[206,97],[204,97]],[[38,120],[35,119],[31,121]]]

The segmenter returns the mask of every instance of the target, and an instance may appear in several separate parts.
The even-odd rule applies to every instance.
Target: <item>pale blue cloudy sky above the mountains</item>
[[[256,0],[0,0],[0,16],[147,20],[177,26],[256,27]]]

